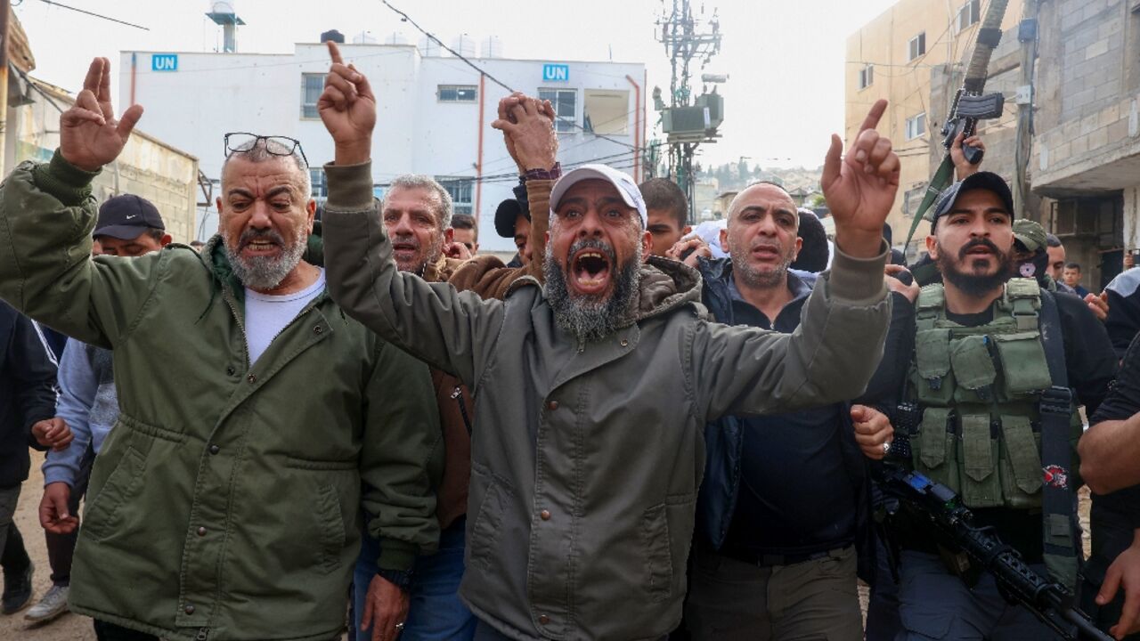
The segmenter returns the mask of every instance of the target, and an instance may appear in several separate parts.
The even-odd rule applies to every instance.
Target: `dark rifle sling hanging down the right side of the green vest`
[[[1073,448],[1069,444],[1073,417],[1073,391],[1068,384],[1065,364],[1065,340],[1061,333],[1057,299],[1045,290],[1041,291],[1041,342],[1049,365],[1052,387],[1041,396],[1041,463],[1044,482],[1042,487],[1042,519],[1044,527],[1045,565],[1056,581],[1070,590],[1075,583],[1075,488],[1073,473]],[[1062,544],[1067,541],[1067,544]],[[1051,559],[1052,558],[1052,559]],[[1051,562],[1052,561],[1052,562]]]

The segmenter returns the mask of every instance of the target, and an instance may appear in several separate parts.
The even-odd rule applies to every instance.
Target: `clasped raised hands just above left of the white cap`
[[[529,169],[549,170],[557,162],[559,137],[554,132],[554,107],[549,100],[515,91],[499,100],[498,119],[491,127],[503,132],[506,151],[520,175]]]

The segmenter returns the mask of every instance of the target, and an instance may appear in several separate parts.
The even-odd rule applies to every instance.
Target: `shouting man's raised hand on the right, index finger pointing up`
[[[882,224],[898,192],[898,156],[890,140],[874,130],[886,109],[886,100],[871,107],[846,156],[842,140],[832,135],[823,163],[821,184],[836,220],[836,245],[856,258],[879,254]]]

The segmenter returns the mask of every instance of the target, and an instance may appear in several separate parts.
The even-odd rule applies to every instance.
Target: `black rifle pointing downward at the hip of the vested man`
[[[974,514],[953,489],[898,463],[903,457],[910,459],[909,435],[895,432],[890,456],[893,461],[882,466],[883,490],[897,497],[899,508],[912,517],[933,525],[948,546],[988,570],[1007,601],[1021,605],[1069,641],[1113,641],[1093,625],[1089,615],[1074,607],[1074,595],[1067,587],[1034,571],[1017,550],[1001,542],[993,528],[972,525]],[[1076,634],[1054,617],[1076,626]]]

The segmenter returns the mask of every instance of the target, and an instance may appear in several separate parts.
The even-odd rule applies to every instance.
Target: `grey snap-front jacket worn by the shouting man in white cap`
[[[399,273],[369,164],[326,171],[333,298],[474,393],[459,592],[512,639],[668,634],[706,423],[855,398],[881,358],[886,251],[837,251],[792,334],[708,322],[698,273],[652,258],[621,328],[583,343],[557,327],[534,278],[484,301]]]

